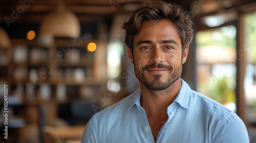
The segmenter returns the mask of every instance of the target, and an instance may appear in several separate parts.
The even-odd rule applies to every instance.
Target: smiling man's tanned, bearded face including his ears
[[[134,57],[127,48],[138,80],[150,90],[164,90],[178,80],[188,48],[183,53],[176,26],[169,20],[145,21],[134,37]]]

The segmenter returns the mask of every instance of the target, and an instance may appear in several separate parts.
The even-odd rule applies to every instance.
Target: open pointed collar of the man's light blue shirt
[[[181,79],[181,88],[178,93],[178,96],[174,100],[182,106],[183,108],[188,109],[188,102],[190,97],[191,88],[188,84]],[[141,98],[141,91],[138,88],[133,94],[130,95],[129,104],[127,104],[127,110],[130,110],[134,105],[140,106],[140,98]]]

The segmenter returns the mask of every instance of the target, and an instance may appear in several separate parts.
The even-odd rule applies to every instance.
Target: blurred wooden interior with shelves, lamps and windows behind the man
[[[134,92],[120,26],[148,2],[1,0],[0,142],[80,142],[94,113]],[[165,2],[194,22],[182,78],[236,112],[256,142],[256,1]]]

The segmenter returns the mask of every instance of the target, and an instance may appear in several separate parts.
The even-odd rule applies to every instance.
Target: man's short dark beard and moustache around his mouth
[[[148,81],[145,77],[145,70],[150,68],[164,68],[167,69],[169,75],[166,79],[166,81],[161,81],[161,74],[155,74],[153,81]],[[151,65],[145,65],[141,68],[141,70],[138,68],[138,66],[134,65],[134,71],[137,79],[149,90],[165,90],[168,87],[170,87],[175,81],[180,79],[181,73],[182,73],[182,63],[176,68],[173,69],[172,66],[156,63]]]

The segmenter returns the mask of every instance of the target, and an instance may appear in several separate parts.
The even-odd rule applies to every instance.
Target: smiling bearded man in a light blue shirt
[[[140,88],[96,113],[81,142],[249,142],[236,113],[180,78],[193,39],[183,10],[152,2],[134,11],[122,28]]]

